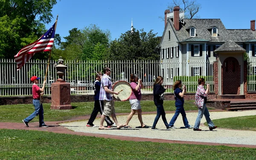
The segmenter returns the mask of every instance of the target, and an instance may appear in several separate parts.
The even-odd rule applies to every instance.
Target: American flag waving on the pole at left
[[[55,22],[56,23],[56,22]],[[52,27],[42,35],[37,41],[31,43],[22,49],[14,56],[17,63],[17,71],[29,61],[36,52],[51,51],[55,34],[55,23]]]

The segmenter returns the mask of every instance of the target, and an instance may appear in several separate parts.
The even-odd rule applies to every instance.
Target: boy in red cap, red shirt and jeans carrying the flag
[[[29,117],[26,117],[23,121],[26,127],[29,127],[28,123],[33,118],[35,118],[39,114],[39,127],[48,127],[44,124],[44,109],[43,104],[41,103],[41,95],[44,94],[44,86],[46,84],[46,80],[43,83],[43,87],[38,87],[38,80],[40,77],[33,76],[30,78],[31,82],[33,83],[32,86],[32,95],[33,95],[33,105],[35,106],[35,111],[30,114]]]

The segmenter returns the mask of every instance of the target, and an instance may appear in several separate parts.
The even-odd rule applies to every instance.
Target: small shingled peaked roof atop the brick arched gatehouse
[[[215,49],[215,52],[219,51],[246,51],[241,46],[233,42],[232,40],[228,40],[227,42],[223,43],[218,49]]]

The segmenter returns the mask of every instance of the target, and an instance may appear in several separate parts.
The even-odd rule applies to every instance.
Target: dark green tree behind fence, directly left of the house
[[[126,31],[110,44],[111,60],[158,60],[160,40],[153,31]]]

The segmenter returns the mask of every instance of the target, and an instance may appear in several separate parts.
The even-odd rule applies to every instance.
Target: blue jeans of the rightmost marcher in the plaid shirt
[[[195,120],[194,129],[199,129],[200,121],[201,121],[203,115],[204,115],[204,117],[205,117],[205,119],[208,123],[208,126],[209,127],[214,127],[214,124],[213,124],[212,120],[210,119],[210,114],[209,114],[209,111],[206,107],[206,104],[204,104],[202,109],[198,109],[198,117]]]

